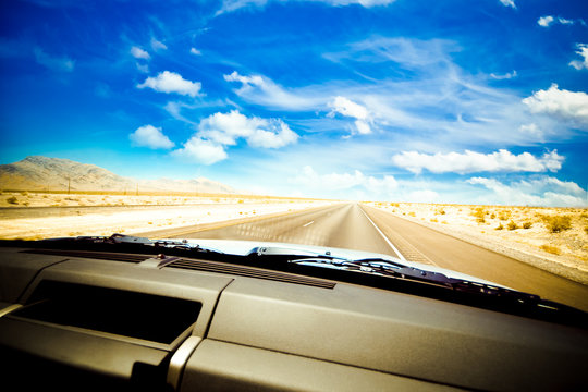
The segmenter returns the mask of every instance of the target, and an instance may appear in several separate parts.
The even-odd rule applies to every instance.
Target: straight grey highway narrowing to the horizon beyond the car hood
[[[338,204],[241,223],[225,222],[145,235],[269,241],[387,254],[467,273],[588,311],[587,285],[357,204]]]

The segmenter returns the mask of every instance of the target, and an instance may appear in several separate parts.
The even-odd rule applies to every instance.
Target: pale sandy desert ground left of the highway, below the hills
[[[0,238],[144,233],[289,212],[329,203],[233,195],[2,193]]]

